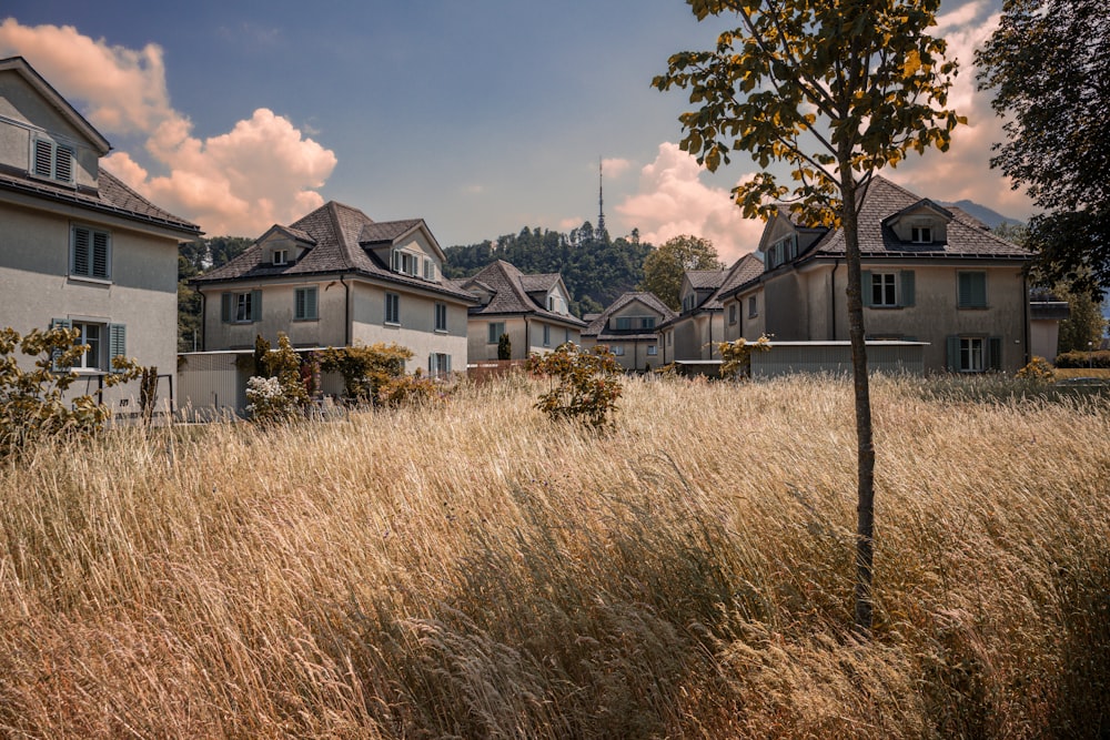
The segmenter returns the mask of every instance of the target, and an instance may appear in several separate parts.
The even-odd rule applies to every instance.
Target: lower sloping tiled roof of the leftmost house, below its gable
[[[97,189],[58,186],[49,181],[32,180],[26,172],[10,168],[0,169],[2,190],[22,192],[130,221],[163,226],[181,232],[186,237],[195,237],[201,233],[200,226],[154,205],[103,168],[100,170],[98,185]]]

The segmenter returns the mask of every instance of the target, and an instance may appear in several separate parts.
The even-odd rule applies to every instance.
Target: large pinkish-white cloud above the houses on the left
[[[102,133],[140,134],[145,153],[114,152],[105,166],[209,234],[256,236],[321,205],[335,154],[266,109],[224,134],[199,139],[173,110],[162,50],[111,47],[72,27],[0,24],[0,57],[20,54]],[[158,172],[152,172],[152,170]]]

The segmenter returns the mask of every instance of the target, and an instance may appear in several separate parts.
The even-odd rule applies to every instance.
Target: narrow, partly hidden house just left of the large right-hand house
[[[686,272],[679,291],[682,313],[664,322],[659,330],[664,364],[719,362],[717,343],[726,339],[725,308],[720,295],[761,271],[763,263],[747,254],[727,271]]]

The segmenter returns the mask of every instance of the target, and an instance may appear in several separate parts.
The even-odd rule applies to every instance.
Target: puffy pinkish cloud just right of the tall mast
[[[677,144],[664,142],[655,161],[644,166],[639,190],[616,211],[625,223],[639,229],[640,239],[663,244],[692,234],[708,239],[720,259],[730,264],[759,245],[763,222],[745,219],[731,193],[700,181],[702,168]]]

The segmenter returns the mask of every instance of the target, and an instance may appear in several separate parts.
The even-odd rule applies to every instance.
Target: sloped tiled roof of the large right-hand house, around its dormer
[[[938,211],[951,214],[948,241],[944,244],[909,244],[902,242],[887,225],[889,216],[920,205],[918,195],[886,178],[876,176],[867,186],[859,211],[859,250],[864,257],[950,257],[980,260],[1028,260],[1029,252],[983,231],[981,223],[958,209]],[[886,222],[886,223],[885,223]],[[844,230],[836,229],[823,236],[804,259],[837,257],[845,254]]]

